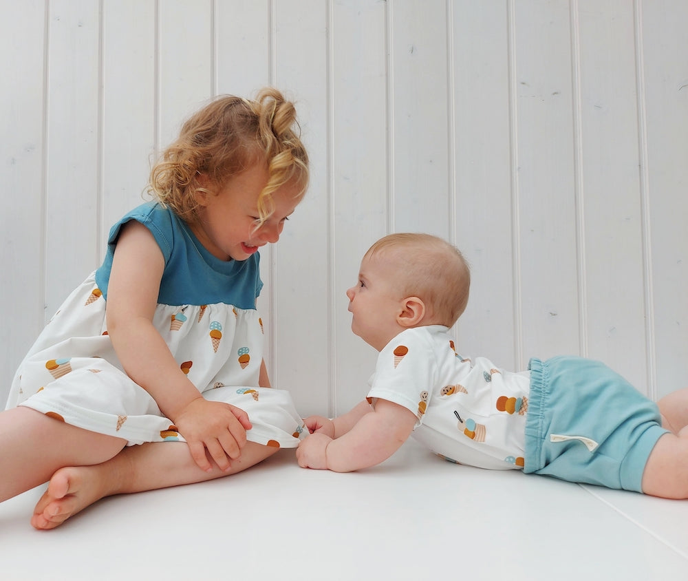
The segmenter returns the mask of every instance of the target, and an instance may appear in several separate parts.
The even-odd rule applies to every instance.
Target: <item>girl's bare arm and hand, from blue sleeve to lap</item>
[[[199,467],[211,469],[206,449],[222,469],[239,457],[250,422],[245,412],[207,401],[187,379],[153,326],[164,258],[149,230],[122,227],[110,273],[107,332],[129,377],[147,390],[189,444]]]

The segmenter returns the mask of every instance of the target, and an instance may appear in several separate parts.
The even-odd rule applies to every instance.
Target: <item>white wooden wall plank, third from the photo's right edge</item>
[[[521,341],[549,357],[580,348],[569,7],[514,5]]]

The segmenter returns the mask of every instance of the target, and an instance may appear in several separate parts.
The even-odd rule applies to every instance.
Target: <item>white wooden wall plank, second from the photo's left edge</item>
[[[99,5],[54,0],[49,6],[46,321],[102,258],[96,242]]]

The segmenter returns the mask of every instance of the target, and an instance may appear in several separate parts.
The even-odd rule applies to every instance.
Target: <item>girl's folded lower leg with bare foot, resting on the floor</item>
[[[193,461],[189,447],[183,442],[155,442],[126,447],[102,464],[58,470],[36,504],[31,524],[36,529],[53,529],[105,496],[144,492],[236,474],[277,450],[275,447],[248,442],[241,448],[241,457],[232,461],[227,472],[220,470],[215,463],[211,472],[204,472]]]

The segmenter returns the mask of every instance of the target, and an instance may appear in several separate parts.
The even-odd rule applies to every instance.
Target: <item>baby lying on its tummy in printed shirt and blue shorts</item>
[[[470,272],[441,238],[392,234],[347,290],[352,330],[380,355],[365,401],[305,420],[301,467],[350,472],[389,458],[413,433],[455,463],[688,498],[688,389],[654,403],[599,361],[531,359],[508,372],[466,359],[449,328]]]

